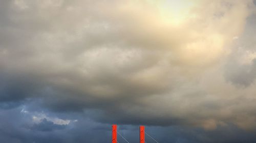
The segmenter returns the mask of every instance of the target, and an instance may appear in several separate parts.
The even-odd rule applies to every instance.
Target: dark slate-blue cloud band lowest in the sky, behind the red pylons
[[[66,114],[77,122],[57,125],[42,119],[31,123],[33,112],[20,112],[24,106],[1,110],[0,139],[3,142],[108,142],[111,141],[111,124],[94,122],[78,113]],[[30,115],[31,113],[31,115]],[[3,116],[4,115],[4,116]],[[55,115],[49,112],[49,116]],[[255,132],[248,132],[228,124],[215,130],[182,126],[146,126],[146,132],[159,142],[255,142]],[[139,140],[139,126],[118,125],[118,132],[130,142]],[[154,142],[147,135],[146,142]],[[119,142],[125,142],[118,135]]]

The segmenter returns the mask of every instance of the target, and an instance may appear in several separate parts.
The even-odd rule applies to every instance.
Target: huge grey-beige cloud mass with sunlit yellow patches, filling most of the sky
[[[237,14],[233,9],[241,9],[238,15],[241,21],[249,13],[239,5],[240,1],[228,3],[232,7],[212,3],[221,6],[224,13],[214,21],[207,16],[215,17],[214,13],[218,12],[215,7],[210,7],[208,13],[195,11],[208,21],[201,21],[206,24],[203,28],[210,30],[198,31],[195,35],[201,36],[194,37],[193,33],[199,30],[195,21],[180,28],[168,26],[159,17],[160,13],[150,9],[151,4],[143,7],[138,4],[143,11],[136,11],[139,16],[144,15],[138,17],[130,13],[135,5],[127,3],[126,6],[126,2],[113,1],[117,6],[114,9],[103,7],[110,4],[90,1],[10,2],[2,14],[10,24],[2,28],[3,33],[9,35],[9,41],[3,42],[7,45],[1,46],[0,52],[1,99],[39,98],[42,105],[55,111],[98,109],[103,112],[102,122],[113,122],[108,120],[111,112],[126,117],[116,119],[120,123],[141,123],[144,118],[137,116],[139,112],[150,117],[148,124],[160,124],[154,123],[160,114],[161,125],[188,122],[183,120],[184,115],[193,110],[189,106],[200,109],[201,102],[214,94],[197,84],[200,84],[198,79],[204,78],[201,74],[222,55],[221,48],[228,43],[222,41],[222,37],[230,38],[243,27],[236,23],[227,33],[219,33],[226,23],[217,29],[212,24],[225,18],[230,23],[237,21],[232,17]],[[199,7],[206,11],[204,3],[200,2]],[[152,23],[144,24],[148,18]],[[211,33],[215,30],[217,34]],[[193,39],[199,40],[193,42]],[[201,56],[205,58],[203,61]],[[198,95],[199,99],[193,98]],[[127,120],[128,117],[134,118]]]

